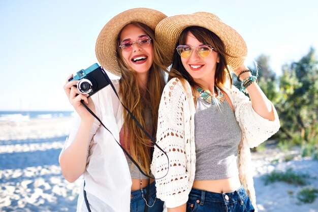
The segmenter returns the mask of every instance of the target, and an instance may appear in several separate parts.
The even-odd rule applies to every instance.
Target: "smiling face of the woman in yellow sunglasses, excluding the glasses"
[[[185,43],[182,45],[190,45],[196,47],[201,43],[198,39],[191,33],[187,32]],[[181,62],[185,70],[194,79],[195,82],[201,83],[205,86],[210,82],[214,82],[214,75],[216,64],[219,63],[218,53],[212,51],[211,54],[205,58],[199,56],[195,49],[187,58],[181,57]]]

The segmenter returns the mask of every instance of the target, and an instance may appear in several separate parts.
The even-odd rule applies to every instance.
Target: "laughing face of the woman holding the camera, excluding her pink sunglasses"
[[[132,42],[136,42],[140,35],[146,35],[146,33],[140,27],[129,24],[126,25],[120,35],[120,42],[124,39],[130,39]],[[147,74],[152,63],[152,42],[148,46],[140,46],[138,43],[134,43],[133,48],[129,51],[122,50],[121,55],[125,63],[133,70],[137,75]]]

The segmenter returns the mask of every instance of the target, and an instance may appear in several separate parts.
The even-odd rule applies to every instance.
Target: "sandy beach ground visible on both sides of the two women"
[[[58,164],[71,123],[72,117],[0,122],[0,212],[76,211],[82,178],[68,183]],[[286,155],[294,158],[284,161]],[[297,148],[282,152],[271,142],[252,153],[252,160],[259,211],[318,212],[318,198],[313,203],[297,199],[303,186],[264,181],[273,170],[292,168],[310,175],[308,186],[318,189],[318,161],[300,157]]]

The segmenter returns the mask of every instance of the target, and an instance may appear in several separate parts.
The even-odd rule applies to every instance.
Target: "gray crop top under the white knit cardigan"
[[[238,174],[242,131],[227,101],[212,105],[198,98],[195,114],[195,180],[224,179]]]

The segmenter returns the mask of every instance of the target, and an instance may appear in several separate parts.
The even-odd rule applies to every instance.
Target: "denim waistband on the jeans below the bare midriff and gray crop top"
[[[214,193],[209,191],[204,191],[200,189],[192,188],[189,194],[189,198],[197,199],[198,203],[203,205],[204,202],[222,202],[226,205],[242,202],[243,199],[247,197],[247,193],[243,186],[234,192],[225,192],[225,193]]]

